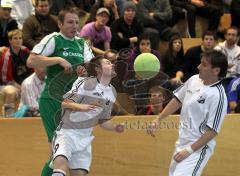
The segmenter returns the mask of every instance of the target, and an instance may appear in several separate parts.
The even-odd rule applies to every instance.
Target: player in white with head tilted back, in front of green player
[[[92,72],[92,73],[91,73]],[[96,77],[79,77],[64,95],[62,122],[53,139],[53,175],[84,176],[91,164],[92,130],[100,124],[106,130],[123,132],[123,124],[109,121],[116,91],[110,84],[113,64],[103,56],[91,60],[88,73]]]

